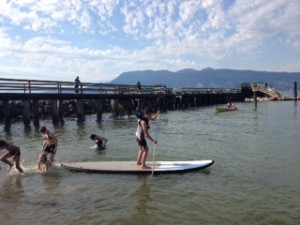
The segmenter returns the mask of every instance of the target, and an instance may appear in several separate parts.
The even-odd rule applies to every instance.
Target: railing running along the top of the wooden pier
[[[138,88],[136,85],[107,84],[107,83],[80,83],[78,94],[218,94],[218,93],[239,93],[240,89],[224,88],[167,88],[165,85],[143,85]],[[74,82],[49,81],[49,80],[26,80],[0,78],[1,93],[18,94],[75,94]]]

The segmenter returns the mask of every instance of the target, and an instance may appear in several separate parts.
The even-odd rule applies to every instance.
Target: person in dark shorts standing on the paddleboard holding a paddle
[[[143,169],[150,169],[149,166],[146,165],[147,156],[148,156],[148,145],[146,142],[146,138],[157,144],[157,141],[153,139],[149,134],[149,120],[156,120],[160,116],[160,112],[157,113],[152,117],[150,109],[145,109],[143,115],[137,114],[138,119],[138,126],[135,132],[136,136],[136,143],[139,148],[139,153],[137,157],[137,165],[141,165]]]

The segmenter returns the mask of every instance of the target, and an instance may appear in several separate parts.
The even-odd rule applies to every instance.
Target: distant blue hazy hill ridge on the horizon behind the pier
[[[236,88],[245,82],[267,83],[279,90],[291,90],[294,81],[299,83],[300,72],[266,72],[253,70],[212,69],[203,70],[183,69],[177,72],[168,70],[144,70],[124,72],[112,84],[136,84],[142,85],[164,84],[170,88]]]

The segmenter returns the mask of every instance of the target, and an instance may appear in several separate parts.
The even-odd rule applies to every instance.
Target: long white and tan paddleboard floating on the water
[[[192,170],[205,169],[211,166],[214,160],[194,161],[157,161],[154,164],[154,173],[178,173]],[[61,163],[66,169],[97,172],[97,173],[152,173],[152,162],[147,162],[150,169],[142,169],[136,161],[101,161],[101,162],[69,162]]]

